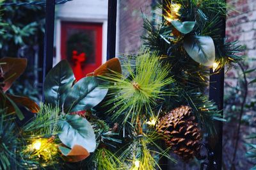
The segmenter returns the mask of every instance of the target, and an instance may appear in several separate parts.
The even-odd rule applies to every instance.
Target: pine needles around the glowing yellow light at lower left
[[[35,162],[27,167],[56,169],[62,164],[58,151],[58,144],[61,142],[57,136],[60,133],[58,123],[61,119],[58,107],[41,103],[40,111],[22,127],[24,145],[20,149],[20,155]]]

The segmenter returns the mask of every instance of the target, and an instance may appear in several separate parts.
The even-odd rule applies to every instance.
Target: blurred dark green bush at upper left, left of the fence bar
[[[2,3],[28,1],[6,0]],[[0,58],[18,57],[28,59],[26,72],[13,84],[10,93],[25,95],[39,102],[40,60],[44,43],[44,6],[4,6],[1,5],[1,18],[4,23],[3,35],[0,36]]]

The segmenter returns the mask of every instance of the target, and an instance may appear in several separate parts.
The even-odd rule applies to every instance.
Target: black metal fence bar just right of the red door
[[[116,6],[117,0],[108,1],[107,60],[115,58],[116,54]]]

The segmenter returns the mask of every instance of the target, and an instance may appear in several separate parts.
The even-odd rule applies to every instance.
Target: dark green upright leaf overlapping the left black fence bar
[[[61,107],[65,101],[68,90],[72,87],[74,79],[74,73],[68,61],[60,61],[45,77],[45,102]]]

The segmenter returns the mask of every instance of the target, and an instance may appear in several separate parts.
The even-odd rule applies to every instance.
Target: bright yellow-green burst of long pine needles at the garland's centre
[[[129,78],[124,75],[102,77],[111,82],[105,86],[111,91],[106,102],[106,105],[112,105],[109,114],[113,120],[121,120],[121,123],[129,121],[131,124],[138,118],[156,117],[152,109],[156,101],[172,95],[171,90],[164,89],[173,82],[172,77],[168,77],[170,66],[163,65],[156,52],[150,54],[146,51],[136,58],[135,70],[129,63],[125,68]]]

